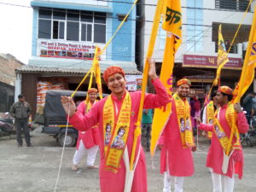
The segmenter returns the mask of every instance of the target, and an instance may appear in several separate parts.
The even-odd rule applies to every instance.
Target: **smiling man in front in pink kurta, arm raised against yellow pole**
[[[154,61],[150,60],[150,67],[148,76],[152,79],[156,94],[146,94],[144,99],[143,108],[159,108],[169,102],[169,98],[160,79],[157,78],[155,73]],[[105,75],[107,73],[107,75]],[[109,73],[109,74],[108,74]],[[107,77],[108,76],[108,77]],[[131,123],[130,130],[127,137],[126,148],[128,149],[129,157],[131,157],[131,148],[133,145],[134,131],[136,129],[135,123],[137,122],[138,109],[140,105],[140,98],[142,93],[140,91],[129,93],[125,90],[125,73],[120,67],[108,67],[104,73],[104,79],[108,84],[108,88],[112,90],[111,99],[115,106],[115,120],[118,118],[122,102],[125,94],[131,95]],[[120,93],[120,94],[119,94]],[[101,165],[100,165],[100,185],[102,192],[123,192],[125,189],[125,163],[124,159],[120,160],[118,172],[114,173],[105,169],[105,154],[104,154],[104,134],[103,134],[103,108],[107,97],[100,102],[96,102],[95,106],[90,110],[90,113],[81,115],[74,113],[73,101],[70,98],[62,96],[61,102],[67,111],[67,103],[71,103],[71,118],[70,123],[80,131],[86,131],[88,127],[99,123],[100,134],[100,150],[101,150]],[[137,166],[135,168],[134,178],[131,186],[131,192],[147,192],[147,170],[145,155],[141,146],[141,137],[138,137],[136,156]]]

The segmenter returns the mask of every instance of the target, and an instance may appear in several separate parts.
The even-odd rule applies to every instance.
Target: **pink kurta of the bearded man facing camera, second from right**
[[[159,144],[163,144],[160,154],[160,172],[166,172],[177,177],[189,177],[194,174],[194,163],[191,148],[183,148],[180,130],[177,122],[175,102],[172,99],[172,114],[160,137]]]

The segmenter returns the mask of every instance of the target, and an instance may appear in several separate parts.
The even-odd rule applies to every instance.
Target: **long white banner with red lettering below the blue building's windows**
[[[104,45],[105,44],[38,39],[37,55],[42,57],[92,60],[96,46],[102,49]],[[103,54],[101,59],[106,59],[106,55]]]

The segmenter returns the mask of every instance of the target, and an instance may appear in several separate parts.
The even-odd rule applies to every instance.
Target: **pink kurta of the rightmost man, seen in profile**
[[[227,105],[220,108],[219,110],[219,123],[222,125],[225,134],[230,137],[230,126],[228,124],[227,119],[225,118],[225,113],[227,110]],[[248,131],[247,119],[244,113],[237,113],[237,128],[240,133],[246,133]],[[201,130],[204,131],[212,131],[213,125],[201,124],[199,126]],[[233,138],[233,143],[236,143],[236,138]],[[222,172],[222,163],[223,163],[223,148],[221,147],[218,137],[216,136],[215,132],[213,131],[212,134],[212,143],[209,148],[207,154],[207,167],[211,167],[213,172],[218,173],[220,175],[224,175]],[[234,166],[235,165],[235,166]],[[230,157],[230,163],[228,172],[225,176],[232,177],[235,167],[235,173],[239,175],[239,178],[242,177],[242,169],[243,169],[243,154],[242,150],[235,150],[234,153]]]

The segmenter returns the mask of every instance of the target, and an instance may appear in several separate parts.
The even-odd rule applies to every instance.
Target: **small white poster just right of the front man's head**
[[[125,75],[126,90],[136,91],[142,90],[143,76],[142,75]]]

